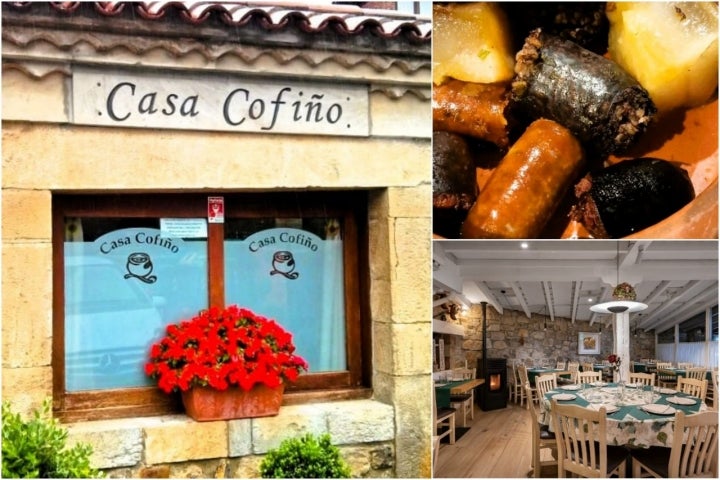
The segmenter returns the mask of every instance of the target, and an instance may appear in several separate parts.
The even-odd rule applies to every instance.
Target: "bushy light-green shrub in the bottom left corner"
[[[35,410],[28,421],[2,405],[3,478],[91,478],[102,473],[90,466],[92,447],[65,447],[67,431],[50,413],[50,400]]]

